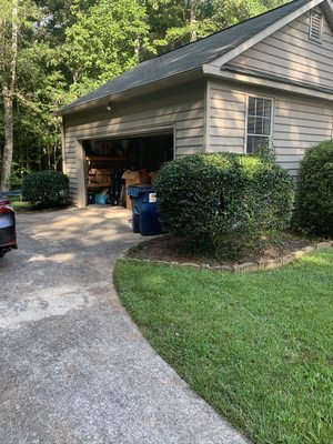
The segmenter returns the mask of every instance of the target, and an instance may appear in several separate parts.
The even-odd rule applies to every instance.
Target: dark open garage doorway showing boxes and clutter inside
[[[161,167],[173,159],[173,133],[90,139],[82,142],[85,158],[87,204],[131,208],[127,186],[154,183]]]

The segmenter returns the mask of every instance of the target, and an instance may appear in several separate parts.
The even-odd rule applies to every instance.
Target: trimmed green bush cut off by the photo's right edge
[[[301,162],[296,221],[307,233],[333,235],[333,140],[310,148]]]

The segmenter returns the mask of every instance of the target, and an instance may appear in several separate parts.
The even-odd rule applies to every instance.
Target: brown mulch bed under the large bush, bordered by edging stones
[[[208,253],[200,254],[189,251],[185,242],[171,234],[158,236],[149,241],[142,242],[131,249],[128,256],[133,259],[150,260],[150,261],[167,261],[179,263],[228,265],[232,266],[236,263],[259,262],[279,259],[281,256],[293,253],[305,246],[313,245],[319,242],[319,239],[311,239],[296,235],[291,232],[283,232],[271,238],[263,238],[251,249],[244,256],[235,261],[216,260]]]

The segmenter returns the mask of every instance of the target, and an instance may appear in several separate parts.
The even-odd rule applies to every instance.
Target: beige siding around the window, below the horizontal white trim
[[[273,143],[278,162],[296,175],[306,148],[333,137],[333,103],[210,80],[208,151],[244,152],[248,94],[274,101]]]

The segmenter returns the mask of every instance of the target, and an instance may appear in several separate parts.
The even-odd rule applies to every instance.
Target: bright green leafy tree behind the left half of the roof
[[[80,95],[134,67],[149,27],[137,0],[100,0],[85,11],[75,4],[72,12],[78,20],[65,30],[64,63]]]

